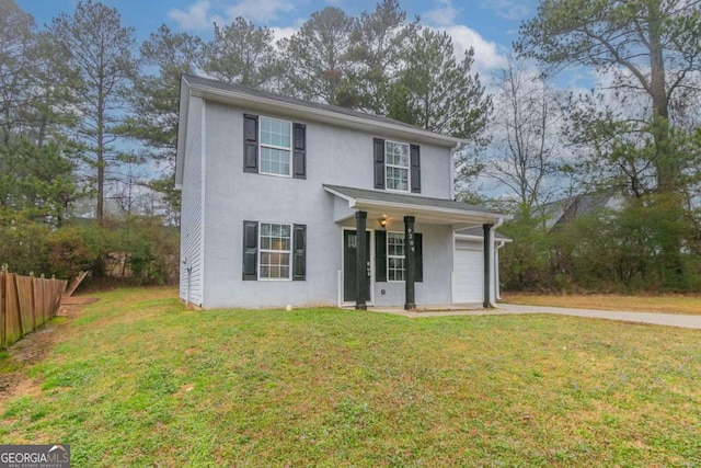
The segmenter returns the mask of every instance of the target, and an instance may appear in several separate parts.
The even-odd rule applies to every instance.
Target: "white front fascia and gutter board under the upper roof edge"
[[[433,144],[443,147],[455,148],[456,145],[466,142],[461,138],[455,138],[447,135],[440,135],[433,132],[424,130],[422,128],[409,128],[402,125],[397,125],[391,122],[381,122],[365,118],[359,115],[340,114],[337,112],[327,111],[324,109],[309,107],[295,103],[278,101],[269,98],[253,96],[246,93],[235,91],[225,91],[202,84],[192,84],[192,95],[203,99],[210,99],[214,101],[231,103],[237,105],[248,105],[251,109],[279,112],[280,110],[287,111],[290,115],[313,119],[318,122],[334,122],[338,125],[358,128],[364,132],[383,132],[390,136],[400,136],[410,138],[418,142]]]

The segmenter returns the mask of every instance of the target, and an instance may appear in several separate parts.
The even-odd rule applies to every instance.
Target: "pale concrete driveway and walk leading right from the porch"
[[[370,310],[370,309],[369,309]],[[701,330],[701,316],[680,316],[674,313],[625,312],[613,310],[570,309],[564,307],[517,306],[499,304],[498,309],[464,309],[441,311],[407,311],[402,309],[371,309],[378,312],[394,313],[411,318],[449,316],[498,316],[509,313],[554,313],[560,316],[589,317],[595,319],[620,320],[625,322],[651,323],[657,326],[681,327]]]

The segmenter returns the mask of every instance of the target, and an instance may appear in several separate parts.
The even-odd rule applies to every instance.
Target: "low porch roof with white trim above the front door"
[[[389,216],[401,213],[401,216],[413,215],[421,218],[418,220],[430,220],[437,224],[459,225],[512,219],[512,216],[452,199],[326,184],[324,184],[324,190],[346,199],[349,208],[377,212]]]

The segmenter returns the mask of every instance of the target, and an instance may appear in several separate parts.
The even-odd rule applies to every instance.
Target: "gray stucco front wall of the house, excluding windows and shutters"
[[[296,119],[307,124],[307,179],[246,173],[242,155],[244,112],[258,114],[212,102],[205,106],[206,290],[203,306],[336,305],[342,226],[333,221],[335,197],[324,191],[323,184],[372,189],[372,137],[383,136]],[[285,115],[265,115],[285,118]],[[421,195],[449,197],[449,150],[428,145],[421,148]],[[243,220],[307,225],[306,281],[242,281]],[[425,282],[416,287],[417,304],[449,303],[450,269],[446,265],[451,264],[450,229],[447,226],[417,226],[417,230],[420,228],[424,232]],[[403,230],[403,226],[399,230]],[[376,285],[376,289],[378,287]],[[386,284],[386,295],[376,292],[378,304],[402,305],[403,288],[401,283]],[[399,290],[401,296],[397,301]]]

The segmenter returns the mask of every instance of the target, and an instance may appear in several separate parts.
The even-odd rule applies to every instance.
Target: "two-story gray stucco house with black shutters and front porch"
[[[493,227],[506,217],[453,201],[451,151],[460,144],[183,76],[181,298],[203,308],[489,306]],[[469,228],[483,236],[472,242],[483,259],[474,264],[456,262],[466,240],[455,232]]]

